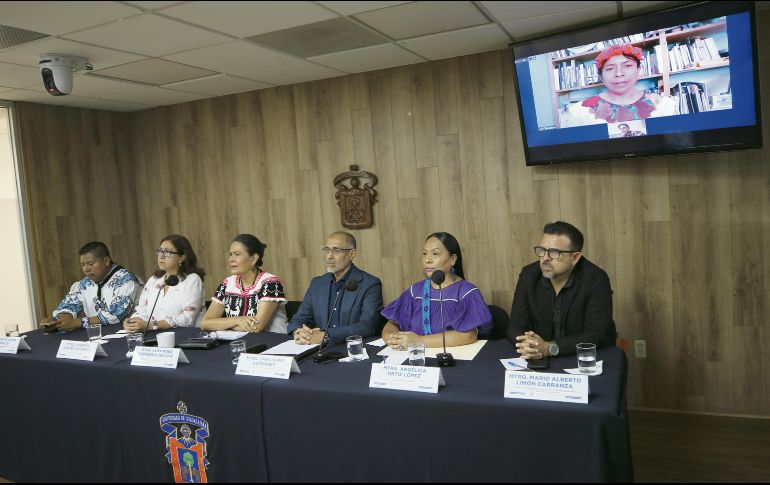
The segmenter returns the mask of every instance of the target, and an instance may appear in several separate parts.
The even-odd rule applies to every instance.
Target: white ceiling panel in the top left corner
[[[141,13],[116,2],[0,2],[0,23],[60,35]]]

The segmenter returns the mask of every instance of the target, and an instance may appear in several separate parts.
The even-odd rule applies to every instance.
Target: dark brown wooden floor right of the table
[[[770,482],[770,419],[629,414],[637,482]]]

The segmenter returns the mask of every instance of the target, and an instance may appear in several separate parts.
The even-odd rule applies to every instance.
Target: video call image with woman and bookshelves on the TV
[[[552,130],[730,109],[727,18],[533,56],[537,126]],[[538,82],[543,81],[543,82]],[[646,134],[636,123],[633,136]],[[629,136],[629,135],[624,135]]]

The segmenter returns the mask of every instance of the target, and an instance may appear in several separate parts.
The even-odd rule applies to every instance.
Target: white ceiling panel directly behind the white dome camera
[[[40,54],[70,54],[86,57],[95,69],[104,69],[142,59],[142,56],[135,54],[104,49],[58,37],[46,37],[0,52],[0,62],[38,67]]]

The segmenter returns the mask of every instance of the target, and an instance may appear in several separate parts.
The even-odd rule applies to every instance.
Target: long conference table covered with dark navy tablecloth
[[[177,329],[177,343],[198,331]],[[0,477],[173,482],[161,421],[176,413],[193,429],[205,421],[198,449],[210,482],[633,480],[627,361],[617,348],[598,353],[603,374],[590,378],[589,403],[576,404],[503,398],[499,359],[515,356],[505,340],[443,369],[446,386],[427,394],[369,388],[371,362],[382,360],[370,346],[371,360],[306,358],[284,380],[235,375],[227,344],[186,350],[190,363],[174,370],[131,366],[125,339],[93,362],[57,359],[63,338],[86,335],[33,331],[31,351],[0,354]],[[249,346],[284,340],[246,337]],[[549,372],[575,365],[556,358]]]

